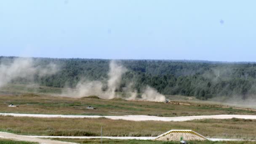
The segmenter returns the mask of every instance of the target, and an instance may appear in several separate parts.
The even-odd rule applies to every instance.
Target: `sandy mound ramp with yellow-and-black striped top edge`
[[[203,141],[208,140],[206,137],[192,130],[171,130],[157,136],[158,141],[180,141],[181,137],[185,141]]]

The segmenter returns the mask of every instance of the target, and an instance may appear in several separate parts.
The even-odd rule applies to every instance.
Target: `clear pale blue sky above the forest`
[[[1,0],[0,55],[256,61],[255,0]]]

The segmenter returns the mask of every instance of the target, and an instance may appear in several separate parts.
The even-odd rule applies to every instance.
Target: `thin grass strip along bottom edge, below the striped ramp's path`
[[[100,144],[100,139],[54,139],[79,144]],[[116,140],[102,139],[104,144],[180,144],[179,141]],[[253,141],[189,141],[188,144],[255,144]]]

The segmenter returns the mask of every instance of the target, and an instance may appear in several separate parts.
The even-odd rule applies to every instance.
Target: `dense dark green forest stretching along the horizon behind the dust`
[[[0,57],[0,63],[15,57]],[[54,63],[60,70],[54,75],[34,76],[33,82],[44,86],[64,87],[75,85],[82,79],[105,81],[109,61],[105,59],[51,59],[33,58],[35,65]],[[214,96],[238,95],[243,99],[256,94],[256,64],[211,61],[120,60],[128,70],[116,91],[132,82],[140,92],[146,85],[165,95],[196,96],[208,99]],[[29,83],[16,78],[11,83]]]

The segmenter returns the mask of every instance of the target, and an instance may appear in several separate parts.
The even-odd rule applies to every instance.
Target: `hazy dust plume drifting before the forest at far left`
[[[15,58],[13,61],[1,61],[0,64],[0,87],[16,78],[33,80],[34,75],[43,77],[53,75],[58,71],[55,64],[48,64],[45,67],[35,66],[31,58]]]

